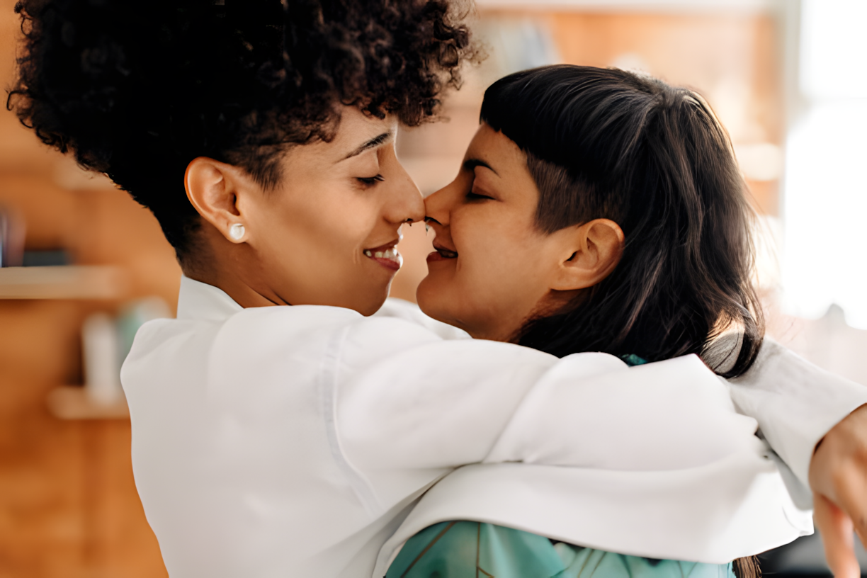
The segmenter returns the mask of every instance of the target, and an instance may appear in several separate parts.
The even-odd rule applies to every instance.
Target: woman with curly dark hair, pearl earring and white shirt
[[[466,10],[16,5],[8,106],[152,211],[184,273],[178,318],[140,328],[121,373],[136,487],[173,578],[366,577],[420,495],[461,465],[496,449],[586,466],[580,424],[550,423],[562,400],[532,395],[551,376],[588,403],[614,385],[660,399],[722,387],[697,361],[560,360],[386,302],[401,224],[425,217],[396,128],[433,120],[477,58]],[[676,422],[677,404],[662,409]],[[742,416],[706,409],[697,420],[690,407],[693,436],[743,441]],[[549,435],[516,437],[515,419]]]

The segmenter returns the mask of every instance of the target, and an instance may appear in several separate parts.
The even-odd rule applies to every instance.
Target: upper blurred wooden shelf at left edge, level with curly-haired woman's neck
[[[119,267],[0,268],[0,299],[116,299],[125,289],[126,276]]]

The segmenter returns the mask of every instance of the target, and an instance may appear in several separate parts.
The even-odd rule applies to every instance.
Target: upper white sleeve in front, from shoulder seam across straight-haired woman
[[[759,443],[755,420],[694,355],[640,367],[608,354],[559,360],[386,318],[357,323],[336,347],[336,438],[368,480],[479,462],[676,470]]]

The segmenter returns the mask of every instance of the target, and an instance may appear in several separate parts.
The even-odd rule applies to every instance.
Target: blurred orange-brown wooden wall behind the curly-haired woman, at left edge
[[[0,0],[3,88],[14,65],[14,3]],[[121,266],[129,297],[160,295],[174,306],[179,268],[153,217],[42,146],[5,107],[0,205],[23,215],[28,249]],[[81,321],[119,305],[0,301],[0,578],[166,576],[135,491],[129,422],[64,422],[45,405],[52,388],[81,383]]]

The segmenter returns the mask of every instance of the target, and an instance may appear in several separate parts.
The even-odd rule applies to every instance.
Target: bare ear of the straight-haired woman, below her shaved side
[[[623,256],[623,230],[607,218],[571,229],[566,239],[567,250],[551,286],[556,291],[593,287],[611,274]]]

